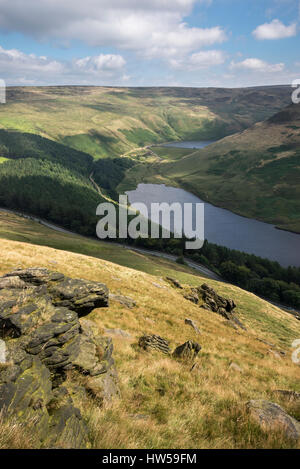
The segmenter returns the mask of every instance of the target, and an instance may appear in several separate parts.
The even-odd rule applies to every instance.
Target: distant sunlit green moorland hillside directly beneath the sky
[[[95,158],[145,144],[220,138],[272,115],[289,87],[17,87],[7,90],[0,128],[38,134]]]

